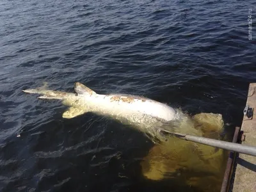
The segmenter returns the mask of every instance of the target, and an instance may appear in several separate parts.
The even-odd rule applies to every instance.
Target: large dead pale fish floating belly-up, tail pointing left
[[[63,118],[74,118],[87,112],[109,116],[123,124],[132,125],[145,132],[152,141],[164,140],[159,134],[160,127],[166,122],[177,119],[177,110],[155,100],[135,95],[100,95],[81,83],[75,83],[76,93],[36,88],[23,90],[26,93],[38,93],[38,99],[60,99],[70,108],[63,113]]]

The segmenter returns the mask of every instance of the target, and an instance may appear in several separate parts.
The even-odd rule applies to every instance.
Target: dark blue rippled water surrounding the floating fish
[[[182,191],[141,177],[152,147],[142,134],[93,114],[63,120],[60,102],[21,90],[47,81],[73,92],[80,81],[241,125],[256,81],[249,8],[255,15],[254,1],[1,1],[0,191]]]

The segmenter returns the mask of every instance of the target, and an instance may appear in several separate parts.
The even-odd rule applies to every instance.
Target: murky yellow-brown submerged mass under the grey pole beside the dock
[[[223,127],[220,114],[200,113],[184,118],[179,132],[221,140]],[[175,185],[189,186],[191,191],[220,191],[227,157],[226,150],[172,137],[154,145],[141,168],[150,180],[175,180]]]

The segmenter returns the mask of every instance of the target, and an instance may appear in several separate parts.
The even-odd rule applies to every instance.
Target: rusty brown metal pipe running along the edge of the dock
[[[240,129],[241,129],[240,127],[236,127],[232,143],[237,143],[237,138],[238,138]],[[229,181],[229,178],[230,178],[230,173],[231,173],[232,165],[233,165],[233,162],[234,162],[234,157],[235,157],[235,153],[230,151],[220,192],[226,192],[227,191],[228,181]]]

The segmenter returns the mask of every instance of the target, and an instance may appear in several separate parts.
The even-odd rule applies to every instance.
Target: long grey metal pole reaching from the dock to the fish
[[[239,152],[241,154],[246,154],[250,156],[256,156],[256,147],[248,146],[248,145],[241,145],[239,143],[230,143],[227,141],[220,141],[220,140],[213,140],[210,138],[204,138],[204,137],[199,137],[199,136],[193,136],[189,134],[182,134],[178,132],[170,132],[166,131],[164,129],[161,129],[162,132],[171,134],[177,138],[187,140],[187,141],[193,141],[196,143],[201,143],[204,145],[209,145],[212,147],[217,147],[217,148],[223,148],[226,150],[231,150],[234,152]]]

